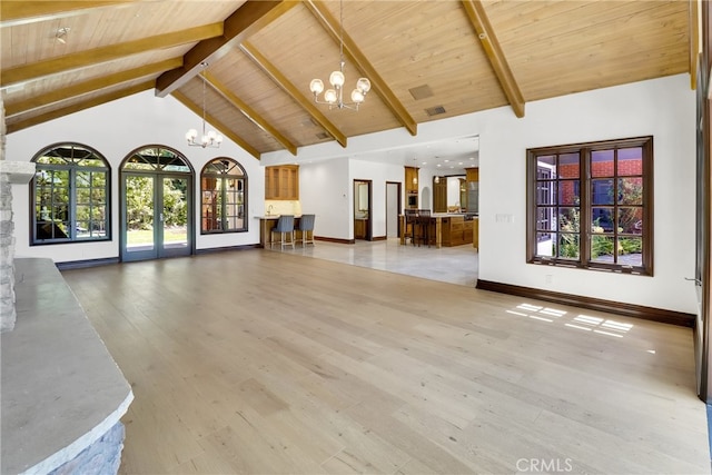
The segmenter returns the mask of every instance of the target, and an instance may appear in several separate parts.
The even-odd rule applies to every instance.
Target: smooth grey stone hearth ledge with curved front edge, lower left
[[[134,393],[52,260],[14,267],[17,324],[0,335],[0,473],[49,473],[119,424]]]

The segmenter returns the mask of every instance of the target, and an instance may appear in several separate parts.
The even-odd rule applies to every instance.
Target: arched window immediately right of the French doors
[[[247,175],[230,158],[209,161],[200,174],[200,232],[247,230]]]

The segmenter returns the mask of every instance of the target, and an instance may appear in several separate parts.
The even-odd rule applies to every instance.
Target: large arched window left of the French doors
[[[111,239],[110,167],[99,152],[59,144],[32,161],[30,245]]]

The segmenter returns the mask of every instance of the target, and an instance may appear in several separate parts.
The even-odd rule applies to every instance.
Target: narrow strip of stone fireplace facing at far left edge
[[[0,98],[0,161],[4,161],[4,103]],[[8,174],[0,174],[0,333],[14,328],[14,224],[12,222],[12,186]]]

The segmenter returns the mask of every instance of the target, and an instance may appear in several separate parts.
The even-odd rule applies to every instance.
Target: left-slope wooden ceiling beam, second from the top
[[[222,34],[222,23],[205,24],[187,30],[174,31],[140,40],[127,41],[119,44],[109,44],[87,51],[79,51],[58,58],[50,58],[30,65],[18,66],[2,71],[0,86],[8,87],[21,82],[28,82],[46,76],[56,75],[73,69],[88,68],[101,62],[112,61],[131,55],[138,55],[152,49],[165,49],[206,38]]]

